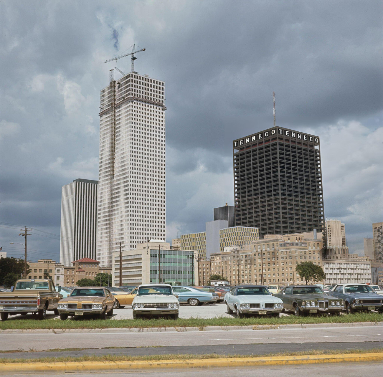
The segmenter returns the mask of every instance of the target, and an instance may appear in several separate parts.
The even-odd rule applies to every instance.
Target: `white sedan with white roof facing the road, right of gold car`
[[[132,302],[133,318],[178,318],[180,303],[169,284],[142,284]]]

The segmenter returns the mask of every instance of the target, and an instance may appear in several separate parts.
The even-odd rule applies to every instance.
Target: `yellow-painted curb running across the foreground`
[[[267,365],[323,364],[339,362],[382,361],[383,353],[332,354],[272,357],[236,357],[219,359],[188,359],[159,361],[105,361],[105,362],[53,362],[53,363],[5,363],[0,372],[81,372],[123,369],[197,368],[197,367],[243,367]]]

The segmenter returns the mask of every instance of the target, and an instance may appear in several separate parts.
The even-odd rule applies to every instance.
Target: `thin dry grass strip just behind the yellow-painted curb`
[[[301,351],[301,352],[278,352],[278,353],[269,353],[262,355],[261,357],[279,357],[279,356],[303,356],[303,355],[331,355],[331,354],[366,354],[366,353],[383,353],[383,348],[372,348],[372,349],[358,349],[357,346],[355,349],[327,349],[327,350],[310,350],[310,351]],[[205,355],[194,355],[194,354],[167,354],[167,355],[148,355],[148,356],[119,356],[119,355],[86,355],[79,357],[40,357],[36,359],[11,359],[4,358],[0,359],[0,364],[6,363],[22,363],[22,362],[43,362],[43,363],[51,363],[51,362],[82,362],[82,361],[158,361],[158,360],[188,360],[188,359],[219,359],[219,358],[248,358],[252,357],[249,355],[218,355],[218,354],[205,354]],[[254,355],[254,357],[260,357],[259,355]]]

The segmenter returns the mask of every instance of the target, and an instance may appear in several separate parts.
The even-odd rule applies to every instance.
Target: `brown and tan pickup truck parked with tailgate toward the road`
[[[0,317],[6,321],[8,315],[33,313],[38,319],[44,319],[47,310],[58,315],[60,291],[61,287],[56,292],[50,279],[20,279],[11,292],[0,292]]]

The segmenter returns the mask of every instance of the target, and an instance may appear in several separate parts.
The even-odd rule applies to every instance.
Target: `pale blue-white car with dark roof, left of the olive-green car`
[[[228,313],[235,312],[239,318],[246,314],[269,314],[279,317],[283,309],[282,300],[270,294],[265,286],[236,286],[226,293],[224,301]]]

